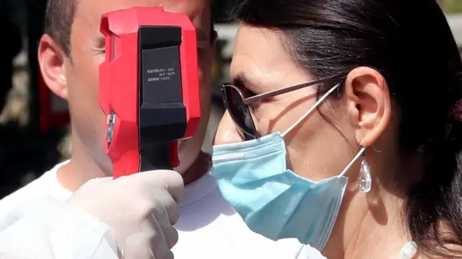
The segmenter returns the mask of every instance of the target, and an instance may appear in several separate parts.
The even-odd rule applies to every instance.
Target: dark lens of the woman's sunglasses
[[[255,138],[255,126],[253,125],[252,116],[248,107],[244,105],[242,96],[239,91],[234,87],[223,87],[223,98],[225,98],[225,105],[230,112],[231,118],[237,125],[239,134],[245,140],[252,140]]]

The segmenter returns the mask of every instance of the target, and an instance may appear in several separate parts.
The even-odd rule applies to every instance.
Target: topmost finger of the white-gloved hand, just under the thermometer
[[[184,183],[183,177],[178,172],[172,170],[153,170],[139,172],[130,177],[137,177],[146,183],[146,188],[164,188],[176,202],[183,198]]]

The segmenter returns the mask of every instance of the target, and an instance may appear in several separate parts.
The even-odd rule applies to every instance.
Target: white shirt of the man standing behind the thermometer
[[[66,162],[64,162],[66,163]],[[56,165],[41,177],[0,200],[0,220],[13,209],[41,195],[66,201],[72,195],[59,184]],[[309,259],[321,253],[296,239],[274,242],[252,232],[226,202],[213,176],[204,175],[185,188],[181,217],[176,224],[179,242],[175,259]]]

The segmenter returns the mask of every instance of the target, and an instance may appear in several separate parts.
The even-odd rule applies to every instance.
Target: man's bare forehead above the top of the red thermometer
[[[103,13],[133,6],[162,7],[167,12],[184,13],[199,28],[210,21],[208,0],[78,0],[78,2],[75,22],[83,22],[87,29],[99,29]]]

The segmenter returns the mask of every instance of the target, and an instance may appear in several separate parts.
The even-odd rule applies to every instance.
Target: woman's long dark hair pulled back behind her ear
[[[369,66],[386,78],[400,110],[402,152],[423,170],[407,190],[405,219],[412,239],[429,256],[460,255],[462,131],[448,115],[453,110],[460,119],[462,109],[454,105],[462,98],[462,62],[437,2],[247,0],[237,17],[281,31],[294,60],[315,77],[344,78],[353,68]],[[319,94],[330,87],[320,86]],[[455,124],[449,137],[448,122]],[[409,174],[395,179],[404,182]]]

